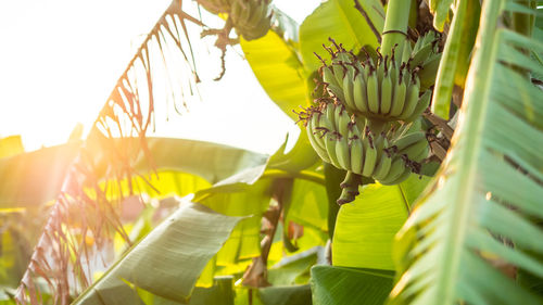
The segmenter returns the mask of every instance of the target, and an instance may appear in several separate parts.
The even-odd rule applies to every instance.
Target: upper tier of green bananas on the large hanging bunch
[[[431,92],[419,97],[418,69],[411,68],[424,60],[418,52],[401,64],[394,53],[390,59],[379,54],[374,63],[370,58],[361,62],[341,45],[334,46],[336,51],[327,48],[332,61],[321,66],[323,80],[330,97],[349,112],[375,120],[413,122],[428,107]]]

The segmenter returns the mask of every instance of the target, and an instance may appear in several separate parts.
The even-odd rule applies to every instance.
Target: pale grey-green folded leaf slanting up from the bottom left
[[[72,304],[143,304],[135,287],[186,303],[207,260],[241,219],[184,203]]]

